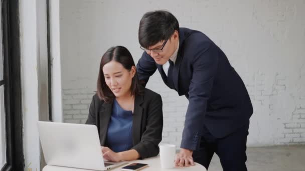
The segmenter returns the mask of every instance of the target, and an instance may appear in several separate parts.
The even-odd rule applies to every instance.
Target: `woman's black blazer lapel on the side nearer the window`
[[[110,121],[110,117],[112,114],[112,105],[113,101],[110,103],[103,103],[99,115],[100,115],[100,142],[101,145],[105,145],[107,130],[108,130],[108,124]]]

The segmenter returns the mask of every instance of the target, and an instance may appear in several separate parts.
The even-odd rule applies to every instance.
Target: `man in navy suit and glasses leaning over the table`
[[[204,33],[179,28],[176,17],[163,10],[142,16],[138,39],[144,52],[137,74],[143,84],[158,69],[164,82],[189,100],[176,166],[196,161],[208,168],[215,152],[225,171],[247,170],[253,108],[224,52]]]

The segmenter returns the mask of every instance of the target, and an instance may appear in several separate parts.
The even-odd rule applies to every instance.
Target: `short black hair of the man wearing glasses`
[[[148,48],[161,40],[167,40],[174,31],[179,31],[177,18],[169,11],[146,12],[139,24],[138,39],[142,47]]]

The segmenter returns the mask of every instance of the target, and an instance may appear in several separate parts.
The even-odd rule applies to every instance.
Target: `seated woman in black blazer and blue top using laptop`
[[[97,126],[101,150],[109,161],[156,156],[162,139],[161,96],[139,84],[130,52],[109,48],[100,63],[97,93],[86,124]]]

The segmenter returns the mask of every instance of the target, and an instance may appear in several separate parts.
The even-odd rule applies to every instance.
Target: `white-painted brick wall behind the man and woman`
[[[168,9],[181,26],[201,30],[219,45],[244,80],[254,107],[249,146],[305,143],[303,0],[73,0],[73,3],[61,0],[60,3],[65,121],[84,122],[100,56],[105,50],[124,45],[137,62],[142,52],[137,40],[142,14]],[[121,5],[117,6],[118,3]],[[166,87],[158,71],[147,87],[163,98],[163,142],[179,146],[187,99]]]

